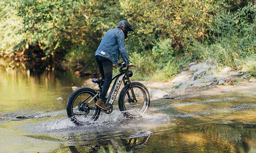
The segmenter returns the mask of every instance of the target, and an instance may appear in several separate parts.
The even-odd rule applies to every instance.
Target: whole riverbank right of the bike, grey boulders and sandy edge
[[[218,68],[206,62],[192,62],[187,71],[177,74],[169,82],[142,83],[149,89],[152,100],[186,99],[196,96],[256,95],[256,79],[230,67]]]

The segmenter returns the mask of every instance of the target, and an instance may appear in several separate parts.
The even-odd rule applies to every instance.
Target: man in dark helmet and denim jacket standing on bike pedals
[[[126,20],[120,21],[117,28],[110,29],[106,32],[95,52],[95,59],[99,66],[100,75],[102,80],[105,80],[99,99],[95,105],[103,110],[108,110],[108,107],[105,106],[106,94],[112,82],[113,64],[118,65],[119,54],[121,54],[125,65],[132,65],[125,48],[125,39],[128,37],[129,31],[134,31],[130,23]]]

